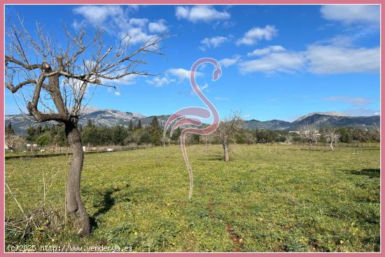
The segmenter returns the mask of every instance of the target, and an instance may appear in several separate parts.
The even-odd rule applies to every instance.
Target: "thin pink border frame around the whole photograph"
[[[0,66],[1,70],[4,70],[4,11],[5,8],[4,6],[6,4],[379,4],[381,5],[381,0],[241,0],[241,1],[236,1],[236,0],[113,0],[113,1],[108,1],[108,0],[59,0],[55,1],[55,3],[52,3],[49,0],[3,0],[0,6],[0,24],[1,24],[1,50],[2,53],[0,55]],[[381,8],[381,28],[385,25],[385,19],[384,19],[384,12],[382,11],[382,6]],[[385,54],[385,48],[383,48],[383,42],[384,42],[385,36],[384,34],[381,34],[381,57]],[[382,71],[384,71],[384,59],[381,58],[381,74]],[[4,85],[4,73],[1,72],[1,85]],[[384,82],[380,79],[381,81],[381,87],[380,87],[380,92],[383,92],[384,90]],[[4,98],[4,90],[0,90],[0,97],[1,97],[1,107],[0,107],[0,116],[4,117],[4,109],[5,109],[5,98]],[[385,106],[382,104],[382,94],[381,94],[381,113],[385,111]],[[381,116],[381,125],[384,124],[384,116]],[[4,127],[4,118],[0,119],[0,127]],[[381,126],[382,127],[382,126]],[[381,130],[381,134],[382,130]],[[382,138],[382,135],[381,135]],[[4,145],[4,130],[2,130],[0,134],[0,144],[1,144],[1,149],[3,149]],[[381,149],[384,148],[385,146],[385,140],[381,140]],[[381,163],[385,160],[385,156],[381,152]],[[0,196],[2,200],[2,204],[0,205],[0,213],[1,213],[1,221],[4,221],[4,204],[5,204],[5,196],[4,196],[4,175],[5,175],[5,160],[4,160],[4,151],[0,151],[0,162],[1,162],[1,169],[2,169],[2,174],[0,176]],[[382,184],[384,177],[382,175],[380,179],[380,183]],[[382,190],[381,186],[381,200],[383,199],[384,196],[384,190]],[[384,204],[381,204],[381,213],[384,213],[385,211],[385,206]],[[381,222],[380,222],[380,228],[382,228],[382,223],[384,221],[384,216],[381,216]],[[382,238],[385,236],[385,231],[381,229],[381,246],[380,250],[381,252],[379,253],[6,253],[4,251],[5,247],[5,242],[4,242],[4,223],[0,223],[0,254],[1,256],[54,256],[54,255],[69,255],[69,256],[82,256],[83,254],[90,256],[91,254],[103,254],[103,256],[127,256],[127,255],[134,255],[134,256],[339,256],[339,257],[344,257],[344,256],[385,256],[384,254],[384,244],[382,242]]]

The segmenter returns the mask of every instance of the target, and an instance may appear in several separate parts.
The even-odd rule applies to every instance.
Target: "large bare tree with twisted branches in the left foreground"
[[[6,88],[22,95],[27,111],[37,122],[64,125],[72,157],[66,182],[66,211],[80,221],[81,235],[89,235],[90,220],[80,197],[80,176],[84,153],[78,120],[92,96],[87,88],[109,85],[126,76],[152,75],[140,71],[148,54],[160,53],[165,35],[148,39],[131,50],[131,37],[125,36],[116,46],[106,46],[101,31],[90,37],[84,30],[69,32],[64,26],[64,40],[55,41],[36,25],[33,35],[20,19],[6,28]],[[93,87],[95,88],[95,87]]]

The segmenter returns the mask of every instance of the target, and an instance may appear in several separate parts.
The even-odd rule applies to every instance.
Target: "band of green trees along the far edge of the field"
[[[316,128],[314,128],[315,130]],[[15,134],[12,125],[8,123],[5,127],[6,135]],[[141,120],[134,124],[130,120],[127,125],[115,125],[112,127],[95,125],[92,120],[88,120],[84,126],[79,125],[82,134],[83,145],[85,146],[124,146],[128,144],[179,144],[181,128],[174,131],[171,138],[162,138],[162,127],[158,118],[154,117],[151,124],[142,126]],[[310,131],[308,128],[307,130]],[[305,142],[311,144],[316,142],[326,142],[335,144],[336,141],[342,143],[355,142],[379,142],[379,127],[373,126],[363,130],[353,127],[320,128],[312,136],[301,136],[300,131],[290,132],[288,130],[248,130],[245,128],[232,132],[227,139],[229,144],[274,144],[279,142]],[[315,133],[315,132],[314,132]],[[311,137],[314,137],[311,139]],[[336,140],[337,139],[337,140]],[[57,125],[31,126],[27,129],[25,141],[38,144],[39,146],[66,146],[64,127]],[[201,136],[198,134],[188,134],[186,144],[223,144],[221,137],[216,134]],[[332,146],[331,146],[332,147]]]

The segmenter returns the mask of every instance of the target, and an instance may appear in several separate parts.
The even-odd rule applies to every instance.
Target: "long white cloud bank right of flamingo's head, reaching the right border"
[[[262,48],[248,53],[259,58],[239,64],[241,73],[274,72],[291,73],[309,71],[313,74],[347,74],[379,71],[379,48],[353,48],[336,45],[314,44],[300,52],[290,52],[276,46],[274,52]]]

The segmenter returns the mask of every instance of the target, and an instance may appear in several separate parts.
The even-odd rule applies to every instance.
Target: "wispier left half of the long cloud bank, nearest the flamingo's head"
[[[270,53],[260,59],[241,62],[239,64],[239,71],[243,74],[253,72],[264,72],[267,74],[276,71],[293,73],[303,69],[306,59],[303,53]]]

